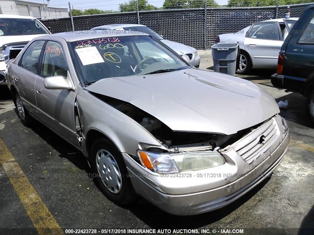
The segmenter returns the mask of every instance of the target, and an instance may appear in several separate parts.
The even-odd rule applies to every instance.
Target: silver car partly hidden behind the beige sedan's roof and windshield
[[[157,32],[153,31],[149,27],[143,25],[143,24],[107,24],[102,26],[97,26],[92,28],[91,30],[117,30],[118,32],[121,30],[130,30],[135,32],[143,32],[147,33],[150,36],[156,38],[160,42],[164,43],[171,49],[173,49],[175,52],[177,52],[179,55],[187,55],[190,59],[190,64],[193,65],[196,68],[200,67],[201,57],[198,55],[197,50],[193,47],[186,46],[181,43],[176,43],[173,41],[169,41],[164,39],[161,35],[159,35]],[[150,50],[150,48],[147,48],[147,50]]]

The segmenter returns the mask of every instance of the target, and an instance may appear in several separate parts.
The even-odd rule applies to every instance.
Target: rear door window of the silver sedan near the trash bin
[[[279,40],[279,30],[276,22],[253,24],[248,32],[249,38]]]

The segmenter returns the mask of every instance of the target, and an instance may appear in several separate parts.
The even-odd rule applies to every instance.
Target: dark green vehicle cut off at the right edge
[[[314,121],[314,6],[308,7],[290,30],[271,83],[307,97],[308,113]]]

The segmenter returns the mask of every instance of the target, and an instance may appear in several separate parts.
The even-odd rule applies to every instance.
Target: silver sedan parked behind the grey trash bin
[[[251,69],[276,69],[278,53],[290,28],[298,18],[262,21],[236,33],[217,36],[216,43],[238,42],[240,48],[238,74]]]

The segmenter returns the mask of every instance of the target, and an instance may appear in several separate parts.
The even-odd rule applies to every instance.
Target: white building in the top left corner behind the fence
[[[44,1],[24,0],[0,0],[0,14],[32,16],[42,20],[69,17],[67,8],[49,7]]]

